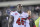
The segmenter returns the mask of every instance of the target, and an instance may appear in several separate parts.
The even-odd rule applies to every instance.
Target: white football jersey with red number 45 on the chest
[[[13,27],[25,27],[24,26],[25,24],[20,23],[21,20],[20,20],[19,24],[17,23],[17,21],[18,21],[19,18],[20,19],[22,19],[22,18],[25,19],[26,17],[28,17],[28,13],[22,12],[22,14],[20,14],[17,11],[15,11],[15,12],[11,12],[10,15],[12,15],[14,17]],[[27,22],[29,22],[29,20],[27,20]],[[28,24],[27,25],[27,27],[28,27],[29,23],[27,23],[27,22],[26,22],[26,24]]]

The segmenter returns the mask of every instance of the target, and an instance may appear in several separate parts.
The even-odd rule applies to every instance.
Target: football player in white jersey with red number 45
[[[23,12],[22,11],[22,5],[18,4],[17,5],[17,11],[10,12],[9,24],[14,19],[13,24],[12,24],[13,27],[30,27],[29,20],[27,19],[27,17],[28,17],[28,13]]]

